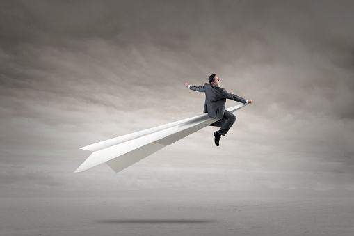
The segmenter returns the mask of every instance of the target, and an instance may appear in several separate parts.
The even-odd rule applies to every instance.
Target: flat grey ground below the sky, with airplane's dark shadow
[[[2,196],[0,235],[354,235],[351,193],[74,195]]]

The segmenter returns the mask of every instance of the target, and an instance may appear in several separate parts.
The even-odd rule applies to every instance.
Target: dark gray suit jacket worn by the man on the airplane
[[[223,118],[226,99],[246,103],[246,99],[232,93],[227,93],[225,88],[205,83],[204,86],[190,86],[189,89],[205,93],[204,113],[212,118]]]

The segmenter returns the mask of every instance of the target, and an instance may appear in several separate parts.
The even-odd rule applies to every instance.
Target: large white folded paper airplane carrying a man
[[[226,110],[234,112],[245,106],[246,104],[240,104]],[[220,119],[211,118],[207,113],[204,113],[200,116],[87,145],[80,149],[89,150],[93,153],[75,172],[87,171],[99,164],[106,163],[113,171],[118,173],[167,145],[216,122],[216,120]]]

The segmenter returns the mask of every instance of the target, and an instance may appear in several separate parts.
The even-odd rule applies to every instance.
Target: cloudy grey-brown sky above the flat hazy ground
[[[354,190],[353,1],[1,1],[0,187]],[[82,146],[254,104],[115,174]],[[227,101],[227,107],[237,102]]]

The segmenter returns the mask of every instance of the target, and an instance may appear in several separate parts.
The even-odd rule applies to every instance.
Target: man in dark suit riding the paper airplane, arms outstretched
[[[204,113],[208,113],[212,118],[221,119],[211,124],[211,126],[220,127],[218,131],[214,132],[214,142],[216,146],[219,145],[221,135],[225,136],[236,121],[236,116],[230,111],[225,110],[226,99],[242,102],[244,104],[252,103],[252,100],[246,100],[232,93],[227,93],[225,88],[220,87],[220,79],[218,79],[216,74],[209,76],[209,84],[205,83],[204,86],[191,86],[186,83],[186,87],[193,91],[204,92]]]

